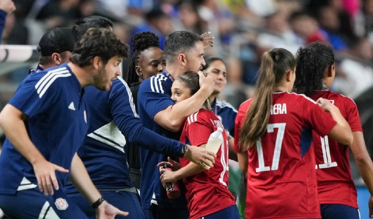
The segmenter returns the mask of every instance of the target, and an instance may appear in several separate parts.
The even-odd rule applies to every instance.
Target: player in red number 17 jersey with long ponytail
[[[285,49],[263,54],[254,97],[241,104],[235,150],[247,172],[246,218],[320,218],[312,130],[351,144],[350,126],[328,100],[288,93],[295,58]],[[330,112],[330,113],[327,113]]]

